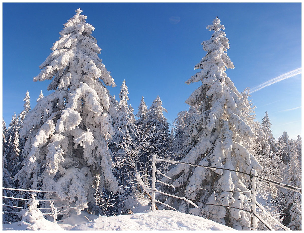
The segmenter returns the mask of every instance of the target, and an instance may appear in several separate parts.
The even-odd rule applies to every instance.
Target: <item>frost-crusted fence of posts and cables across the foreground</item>
[[[204,189],[204,188],[201,188],[201,187],[196,187],[194,185],[191,185],[191,184],[187,184],[187,183],[184,183],[182,181],[179,181],[179,180],[175,180],[173,178],[170,178],[168,176],[169,179],[171,180],[174,180],[176,182],[179,182],[179,183],[182,183],[182,184],[185,184],[187,186],[192,186],[192,187],[195,187],[195,189],[198,189],[198,190],[205,190],[205,191],[210,191],[210,194],[202,194],[202,193],[198,193],[198,191],[194,191],[194,190],[188,190],[188,189],[185,189],[185,191],[189,191],[189,192],[195,192],[197,193],[198,195],[202,196],[202,195],[205,195],[205,196],[208,196],[208,197],[218,197],[218,196],[212,196],[211,195],[211,192],[250,192],[250,199],[238,199],[238,198],[231,198],[231,197],[220,197],[220,198],[227,198],[227,199],[234,199],[234,200],[242,200],[242,201],[250,201],[250,205],[251,205],[251,209],[250,210],[245,210],[245,209],[241,209],[241,208],[238,208],[238,207],[232,207],[232,206],[223,206],[223,205],[218,205],[218,204],[211,204],[211,203],[206,203],[206,202],[202,202],[202,201],[199,201],[199,200],[192,200],[192,199],[189,199],[189,198],[186,198],[186,197],[181,197],[181,196],[176,196],[176,195],[172,195],[172,194],[168,194],[168,193],[165,193],[163,191],[160,191],[160,190],[157,190],[156,187],[155,187],[155,182],[158,181],[160,182],[159,180],[156,180],[156,177],[155,177],[155,173],[159,173],[159,174],[162,174],[159,170],[156,169],[156,163],[157,162],[168,162],[168,163],[173,163],[173,164],[178,164],[178,163],[181,163],[181,164],[185,164],[185,165],[189,165],[189,166],[196,166],[196,167],[203,167],[203,168],[207,168],[207,169],[212,169],[212,170],[216,170],[216,169],[221,169],[221,170],[228,170],[228,171],[232,171],[232,172],[237,172],[237,173],[241,173],[241,174],[245,174],[245,175],[248,175],[250,176],[250,180],[251,180],[251,183],[250,183],[250,187],[251,189],[250,190],[229,190],[229,191],[223,191],[223,190],[209,190],[209,189]],[[288,211],[292,211],[290,209],[288,209],[287,207],[284,207],[283,205],[275,202],[274,200],[264,196],[263,194],[261,194],[261,191],[260,190],[257,190],[256,189],[256,186],[255,186],[255,180],[258,178],[258,179],[261,179],[261,180],[265,180],[269,183],[273,183],[275,185],[278,185],[280,187],[283,187],[283,188],[286,188],[288,190],[293,190],[295,192],[298,192],[298,193],[302,193],[302,189],[299,188],[299,187],[293,187],[293,186],[290,186],[290,185],[287,185],[287,184],[282,184],[282,183],[278,183],[278,182],[275,182],[273,180],[269,180],[267,178],[264,178],[264,177],[261,177],[261,176],[257,176],[256,173],[255,173],[255,170],[251,170],[252,172],[250,174],[248,173],[244,173],[244,172],[240,172],[240,171],[236,171],[236,170],[231,170],[231,169],[225,169],[225,168],[217,168],[217,167],[209,167],[209,166],[202,166],[202,165],[195,165],[195,164],[191,164],[191,163],[185,163],[185,162],[179,162],[179,161],[174,161],[174,160],[168,160],[168,159],[156,159],[156,156],[154,155],[153,156],[153,159],[152,159],[152,188],[149,189],[147,187],[145,187],[144,183],[143,182],[140,182],[141,183],[141,186],[143,186],[143,189],[149,193],[149,192],[152,192],[152,197],[151,197],[151,210],[154,211],[155,210],[155,202],[158,202],[158,203],[161,203],[161,204],[164,204],[174,210],[176,210],[175,208],[169,206],[168,204],[165,204],[165,203],[162,203],[160,201],[157,201],[155,200],[155,193],[156,192],[160,192],[164,195],[168,195],[168,196],[171,196],[171,197],[175,197],[175,198],[179,198],[179,199],[182,199],[182,200],[185,200],[185,201],[188,201],[190,204],[194,205],[195,207],[197,207],[197,205],[194,203],[194,202],[197,202],[197,203],[202,203],[202,204],[206,204],[206,205],[213,205],[213,206],[220,206],[220,207],[226,207],[226,208],[233,208],[233,209],[238,209],[238,210],[241,210],[241,211],[245,211],[245,212],[249,212],[250,215],[251,215],[251,227],[247,227],[247,226],[240,226],[240,225],[236,225],[236,224],[229,224],[229,225],[233,225],[233,226],[239,226],[239,227],[245,227],[245,228],[251,228],[252,230],[255,230],[256,228],[256,224],[255,224],[255,220],[254,218],[256,217],[259,221],[261,221],[269,230],[273,230],[271,228],[271,226],[265,222],[263,219],[261,219],[260,216],[258,216],[256,214],[256,210],[255,210],[255,206],[257,204],[257,206],[263,211],[265,212],[268,216],[270,216],[272,218],[272,220],[274,220],[281,228],[283,228],[284,230],[290,230],[289,228],[287,228],[286,226],[284,226],[283,224],[281,224],[279,221],[277,221],[275,218],[273,218],[267,211],[265,211],[265,209],[258,203],[256,203],[256,198],[255,198],[255,195],[256,193],[260,194],[261,196],[267,198],[268,200],[270,200],[271,202],[287,209]],[[162,174],[164,175],[164,174]],[[164,175],[165,176],[165,175]],[[140,178],[141,180],[141,178]],[[142,180],[141,180],[142,181]],[[167,185],[167,186],[170,186],[170,187],[173,187],[174,186],[171,184],[166,184],[164,182],[160,182],[164,185]],[[26,189],[16,189],[16,188],[5,188],[5,187],[2,187],[2,189],[4,190],[14,190],[14,191],[26,191],[26,192],[40,192],[40,193],[56,193],[56,191],[43,191],[43,190],[26,190]],[[67,192],[67,191],[65,191]],[[246,197],[246,196],[245,196]],[[29,198],[21,198],[21,197],[7,197],[7,196],[2,196],[2,198],[9,198],[9,199],[15,199],[15,200],[32,200],[32,199],[29,199]],[[37,199],[38,200],[38,199]],[[56,200],[56,199],[39,199],[38,201],[62,201],[62,200]],[[65,207],[68,207],[67,209],[65,210],[62,210],[62,211],[58,211],[57,214],[67,214],[67,217],[69,215],[69,209],[70,208],[74,208],[74,207],[70,207],[69,206],[69,200],[67,200],[67,203],[68,205],[67,206],[61,206],[61,207],[54,207],[54,208],[65,208]],[[24,207],[20,207],[20,206],[14,206],[14,205],[8,205],[8,204],[2,204],[3,206],[5,207],[11,207],[11,208],[16,208],[16,209],[24,209]],[[53,209],[53,207],[48,207],[48,208],[38,208],[40,210],[48,210],[48,209]],[[157,208],[157,207],[156,207]],[[57,210],[56,210],[57,211]],[[67,211],[67,212],[64,212],[64,211]],[[178,211],[178,210],[176,210]],[[182,210],[179,210],[179,211],[182,211]],[[186,211],[184,211],[186,212]],[[299,214],[300,216],[302,216],[302,214],[300,213],[297,213],[295,211],[292,211],[296,214]],[[2,213],[9,213],[9,214],[18,214],[19,211],[16,211],[16,212],[13,212],[13,211],[2,211]],[[52,213],[42,213],[43,215],[51,215]],[[194,214],[194,213],[190,213],[188,212],[187,214],[193,214],[193,215],[196,215],[196,216],[200,216],[200,215],[197,215],[197,214]],[[202,216],[200,216],[202,217]],[[54,221],[56,221],[54,219]],[[215,221],[215,220],[212,220],[212,221]],[[216,222],[219,222],[219,221],[216,221]],[[219,222],[219,223],[223,223],[223,224],[226,224],[225,222]]]

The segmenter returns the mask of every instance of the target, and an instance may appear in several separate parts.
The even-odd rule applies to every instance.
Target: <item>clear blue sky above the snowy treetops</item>
[[[51,53],[63,24],[81,8],[102,49],[99,57],[111,72],[118,94],[123,80],[129,104],[137,113],[141,97],[150,107],[160,96],[171,123],[199,83],[185,84],[206,55],[201,43],[218,16],[230,40],[228,56],[235,68],[226,74],[238,91],[301,67],[301,3],[3,3],[2,113],[8,127],[23,110],[29,91],[31,108],[49,81],[33,82]],[[277,139],[301,133],[301,74],[252,93],[256,120],[265,112]]]

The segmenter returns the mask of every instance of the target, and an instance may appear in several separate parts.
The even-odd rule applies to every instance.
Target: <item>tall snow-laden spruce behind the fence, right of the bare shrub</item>
[[[225,28],[217,17],[207,29],[214,33],[211,39],[202,42],[207,54],[195,66],[195,69],[202,70],[186,81],[187,84],[201,81],[202,85],[186,100],[190,106],[199,106],[199,114],[191,122],[187,146],[180,152],[185,154],[181,161],[250,173],[251,169],[258,170],[261,166],[243,146],[245,141],[250,142],[256,136],[242,115],[247,108],[242,95],[225,73],[226,67],[234,68],[224,53],[229,49],[229,40],[220,30]],[[174,185],[172,193],[177,196],[250,210],[250,193],[244,192],[249,177],[245,175],[179,164],[167,176],[174,180],[164,177],[163,181]],[[245,211],[203,203],[192,209],[188,202],[172,197],[167,200],[168,204],[174,202],[175,207],[178,205],[183,212],[225,222],[240,230],[250,226],[250,214]]]

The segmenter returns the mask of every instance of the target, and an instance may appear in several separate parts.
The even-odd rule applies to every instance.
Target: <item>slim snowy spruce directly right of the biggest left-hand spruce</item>
[[[134,131],[135,117],[133,114],[133,108],[128,105],[128,87],[126,86],[126,81],[123,81],[123,84],[120,87],[119,92],[119,104],[117,106],[118,118],[114,122],[114,129],[116,131],[113,135],[111,150],[112,152],[117,152],[120,148],[117,146],[117,143],[123,141],[123,136],[126,132],[129,132],[132,135]]]

